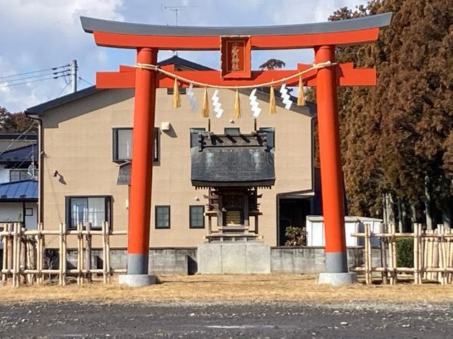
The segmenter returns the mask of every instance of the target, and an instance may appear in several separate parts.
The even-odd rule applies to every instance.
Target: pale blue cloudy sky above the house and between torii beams
[[[16,82],[7,77],[11,74],[50,69],[76,59],[85,80],[79,81],[81,89],[94,83],[96,71],[134,64],[134,51],[97,47],[93,35],[81,29],[79,16],[174,25],[175,13],[165,6],[188,6],[179,11],[178,25],[283,25],[326,21],[338,8],[362,3],[365,0],[0,0],[0,106],[20,112],[70,91],[64,78],[11,85],[36,80],[31,76],[46,72]],[[218,52],[178,55],[219,68]],[[168,57],[171,52],[159,52],[159,60]],[[282,59],[291,69],[297,62],[312,62],[314,56],[311,50],[256,51],[253,68],[270,57]]]

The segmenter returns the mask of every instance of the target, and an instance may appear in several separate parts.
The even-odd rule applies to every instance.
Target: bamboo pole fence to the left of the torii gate
[[[3,227],[1,227],[3,226]],[[11,281],[13,287],[21,284],[42,284],[45,278],[58,276],[59,285],[66,285],[67,277],[76,277],[77,284],[92,280],[93,275],[103,275],[103,283],[110,283],[113,273],[125,273],[125,269],[113,270],[110,267],[110,237],[127,234],[127,231],[109,230],[108,223],[103,222],[101,230],[91,230],[87,225],[76,226],[76,230],[68,230],[66,224],[59,225],[59,230],[43,230],[42,224],[38,230],[25,230],[21,223],[0,224],[1,244],[3,244],[3,262],[1,266],[1,281]],[[45,237],[57,237],[59,242],[58,268],[52,268],[45,255]],[[67,268],[67,241],[69,237],[76,238],[76,268]],[[102,269],[91,266],[93,237],[101,237]]]

